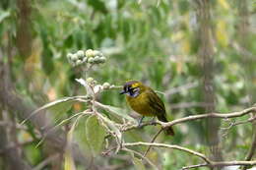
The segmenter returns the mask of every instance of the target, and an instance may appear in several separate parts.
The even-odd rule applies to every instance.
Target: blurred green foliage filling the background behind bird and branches
[[[160,97],[169,120],[207,113],[209,103],[205,102],[203,90],[206,71],[202,70],[204,60],[200,57],[200,50],[204,48],[200,3],[210,7],[208,24],[213,52],[209,57],[213,64],[214,110],[232,112],[252,106],[256,102],[254,0],[1,0],[0,69],[3,74],[0,79],[5,81],[0,81],[0,85],[3,90],[10,89],[4,85],[11,86],[9,91],[31,110],[63,96],[83,95],[84,87],[75,82],[76,78],[83,77],[83,72],[72,68],[66,55],[80,49],[97,49],[107,56],[107,62],[93,68],[87,76],[98,83],[123,85],[127,80],[139,80],[160,90],[164,93]],[[10,108],[12,104],[8,105],[4,92],[1,95],[0,127],[4,134],[1,143],[6,145],[0,146],[0,169],[14,166],[13,159],[4,156],[6,147],[12,149],[12,144],[16,145],[15,155],[26,162],[24,169],[30,166],[61,169],[63,154],[56,156],[56,149],[51,148],[54,142],[43,142],[36,147],[45,127],[40,127],[41,124],[36,127],[33,123],[21,126],[19,123],[26,117],[25,112],[18,113],[21,103],[14,103]],[[106,91],[98,100],[131,112],[118,90]],[[81,103],[72,107],[63,104],[43,115],[56,123],[85,108]],[[249,115],[236,120],[248,118]],[[228,124],[226,120],[221,121],[218,127]],[[177,125],[174,138],[161,135],[157,141],[211,155],[206,127],[205,121]],[[61,127],[64,133],[69,128],[69,124]],[[84,125],[78,126],[81,133],[78,137],[82,141],[84,128]],[[134,130],[125,133],[124,138],[128,142],[150,142],[157,129]],[[224,160],[243,160],[252,134],[250,123],[232,127],[227,133],[219,131]],[[88,161],[84,164],[78,161],[78,169],[135,168],[131,155],[126,152],[96,157],[82,152]],[[180,169],[199,162],[198,158],[178,150],[152,149],[148,157],[162,169]],[[50,160],[41,164],[47,158]]]

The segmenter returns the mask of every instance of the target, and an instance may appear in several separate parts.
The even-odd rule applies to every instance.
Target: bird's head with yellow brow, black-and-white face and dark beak
[[[120,94],[127,94],[131,97],[137,97],[147,88],[146,85],[143,85],[141,82],[138,81],[129,81],[125,85],[123,85],[123,90]]]

